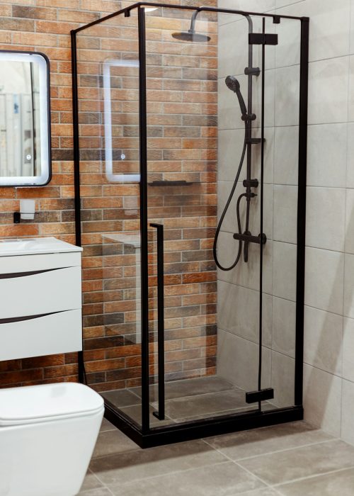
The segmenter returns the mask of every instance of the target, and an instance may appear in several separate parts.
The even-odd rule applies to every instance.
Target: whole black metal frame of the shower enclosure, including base
[[[299,182],[297,205],[297,302],[296,302],[296,349],[295,349],[295,405],[287,408],[261,411],[259,409],[223,417],[173,424],[151,428],[149,425],[149,329],[148,318],[148,270],[147,270],[147,96],[146,96],[146,52],[145,52],[145,14],[144,6],[156,6],[166,9],[183,9],[217,13],[234,13],[242,16],[273,18],[279,23],[282,18],[294,19],[301,23],[301,60],[300,60],[300,100],[299,100]],[[75,181],[75,220],[76,244],[81,246],[81,201],[79,184],[79,108],[77,95],[76,34],[81,30],[101,23],[109,18],[124,15],[137,9],[139,30],[139,131],[140,131],[140,226],[141,226],[141,281],[142,281],[142,426],[133,422],[116,410],[110,402],[105,403],[105,417],[116,427],[125,432],[142,448],[158,446],[187,439],[236,432],[255,427],[281,424],[303,418],[302,407],[302,362],[303,362],[303,327],[304,327],[304,247],[306,214],[306,165],[307,165],[307,93],[309,61],[309,18],[280,16],[270,13],[236,11],[212,7],[193,7],[181,5],[138,2],[97,21],[72,30],[72,87],[74,112],[74,181]],[[263,45],[264,48],[264,45]],[[263,136],[263,134],[262,134]],[[262,140],[263,143],[263,140]],[[262,245],[261,245],[262,247]],[[161,336],[161,334],[160,334]],[[79,354],[79,380],[85,381],[84,359]]]

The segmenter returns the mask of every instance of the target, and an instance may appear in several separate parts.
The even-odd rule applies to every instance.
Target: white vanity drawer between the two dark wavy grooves
[[[81,308],[81,267],[1,274],[0,319]]]

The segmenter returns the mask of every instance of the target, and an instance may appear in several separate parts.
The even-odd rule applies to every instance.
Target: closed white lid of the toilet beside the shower
[[[84,384],[55,383],[0,390],[0,426],[92,415],[103,398]]]

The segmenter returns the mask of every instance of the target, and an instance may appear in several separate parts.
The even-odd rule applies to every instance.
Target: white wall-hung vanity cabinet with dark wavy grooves
[[[81,252],[54,237],[0,242],[0,360],[82,349]]]

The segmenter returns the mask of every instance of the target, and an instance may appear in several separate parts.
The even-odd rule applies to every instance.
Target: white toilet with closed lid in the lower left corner
[[[0,496],[76,495],[103,412],[83,384],[0,390]]]

